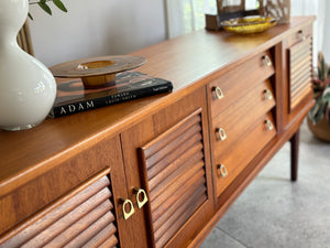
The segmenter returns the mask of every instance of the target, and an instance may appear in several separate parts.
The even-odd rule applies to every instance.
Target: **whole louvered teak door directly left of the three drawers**
[[[206,108],[200,88],[122,133],[139,247],[187,247],[215,213]]]

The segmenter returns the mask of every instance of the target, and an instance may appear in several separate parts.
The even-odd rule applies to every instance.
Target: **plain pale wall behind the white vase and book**
[[[46,66],[92,56],[123,55],[165,40],[163,0],[63,0],[53,15],[30,6],[34,55]]]

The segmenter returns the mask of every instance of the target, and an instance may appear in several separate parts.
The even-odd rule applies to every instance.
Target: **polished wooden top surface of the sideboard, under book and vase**
[[[147,61],[136,71],[172,80],[174,91],[58,119],[47,118],[29,130],[0,130],[0,196],[18,183],[24,184],[58,162],[185,97],[312,21],[312,17],[293,18],[289,24],[248,36],[200,30],[132,53]]]

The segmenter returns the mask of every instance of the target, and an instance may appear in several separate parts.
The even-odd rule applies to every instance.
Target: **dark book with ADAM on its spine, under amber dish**
[[[173,90],[169,80],[139,72],[116,75],[116,83],[85,89],[80,78],[58,78],[57,95],[50,117],[56,118]]]

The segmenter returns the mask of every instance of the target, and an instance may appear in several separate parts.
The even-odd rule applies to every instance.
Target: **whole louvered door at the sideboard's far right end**
[[[312,24],[293,30],[275,46],[275,54],[279,100],[276,122],[283,132],[312,106]]]

